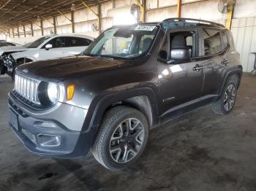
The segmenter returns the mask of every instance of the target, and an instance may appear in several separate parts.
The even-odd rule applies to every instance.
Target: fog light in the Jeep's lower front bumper
[[[42,147],[59,147],[61,145],[61,136],[38,134],[37,142]]]

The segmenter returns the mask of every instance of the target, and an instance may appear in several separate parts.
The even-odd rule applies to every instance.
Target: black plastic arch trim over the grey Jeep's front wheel
[[[150,127],[159,124],[157,95],[151,87],[138,87],[122,90],[118,93],[106,95],[100,99],[94,99],[91,105],[83,124],[83,130],[86,131],[91,128],[99,128],[105,112],[118,105],[132,106],[133,108],[138,109],[145,114]]]

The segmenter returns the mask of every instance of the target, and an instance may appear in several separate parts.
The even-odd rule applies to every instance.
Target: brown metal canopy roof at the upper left
[[[102,0],[86,0],[84,2],[93,6]],[[75,4],[75,9],[84,8],[81,0],[0,0],[0,30],[17,28],[35,22],[38,17],[43,20],[60,15],[60,12],[70,12],[72,4]]]

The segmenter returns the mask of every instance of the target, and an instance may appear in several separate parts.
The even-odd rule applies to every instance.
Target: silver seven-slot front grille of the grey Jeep
[[[15,74],[15,93],[20,95],[21,98],[31,101],[34,104],[39,104],[37,89],[39,81],[25,77],[21,74]]]

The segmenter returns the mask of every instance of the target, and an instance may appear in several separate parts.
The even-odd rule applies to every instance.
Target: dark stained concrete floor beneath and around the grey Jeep
[[[0,190],[256,190],[256,77],[244,74],[226,116],[205,106],[151,130],[138,163],[111,172],[89,155],[55,160],[27,151],[7,124],[0,78]]]

